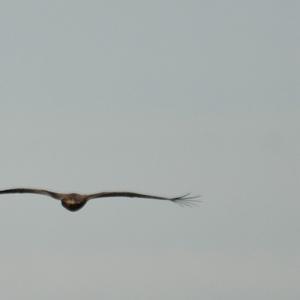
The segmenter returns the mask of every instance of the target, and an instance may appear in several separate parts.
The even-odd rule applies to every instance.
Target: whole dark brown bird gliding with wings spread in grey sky
[[[70,211],[77,211],[81,209],[89,200],[95,198],[106,198],[106,197],[129,197],[129,198],[146,198],[146,199],[157,199],[157,200],[168,200],[180,205],[192,206],[195,201],[199,200],[200,196],[190,196],[189,194],[179,197],[161,197],[146,195],[133,192],[101,192],[96,194],[76,194],[76,193],[56,193],[48,190],[32,189],[32,188],[14,188],[7,190],[0,190],[0,194],[16,194],[16,193],[29,193],[29,194],[40,194],[52,197],[56,200],[60,200],[64,208]]]

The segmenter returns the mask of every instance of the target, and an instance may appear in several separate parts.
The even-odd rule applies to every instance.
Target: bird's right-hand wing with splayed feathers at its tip
[[[146,198],[146,199],[157,199],[157,200],[169,200],[181,205],[192,206],[197,201],[199,201],[200,196],[189,196],[189,194],[179,196],[179,197],[161,197],[161,196],[153,196],[132,192],[102,192],[96,194],[90,194],[87,196],[87,200],[95,199],[95,198],[106,198],[106,197],[129,197],[129,198]]]

